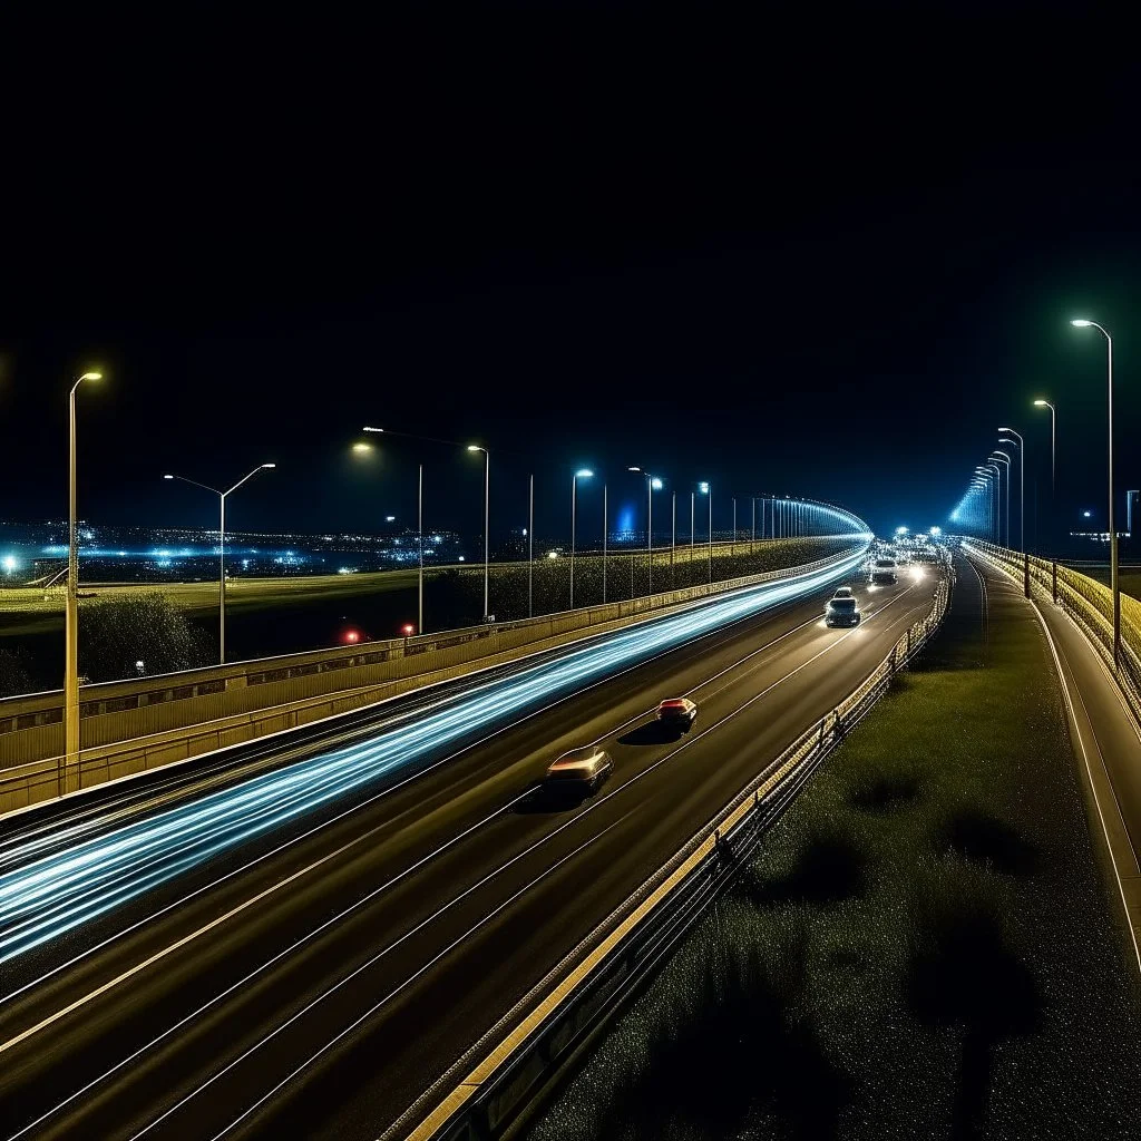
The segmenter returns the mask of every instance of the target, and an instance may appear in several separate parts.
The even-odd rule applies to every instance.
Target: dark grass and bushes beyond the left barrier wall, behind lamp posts
[[[851,540],[788,539],[766,540],[750,549],[738,543],[736,552],[726,544],[714,544],[713,581],[778,570],[783,567],[824,558],[851,545]],[[541,552],[536,551],[536,555]],[[699,585],[709,581],[710,552],[702,544],[679,548],[671,567],[670,552],[654,555],[653,582],[647,555],[642,550],[610,555],[606,559],[606,598],[620,601],[655,591]],[[532,582],[533,609],[536,615],[566,609],[570,594],[570,560],[536,558]],[[318,575],[291,578],[242,578],[227,583],[226,649],[230,661],[323,649],[350,641],[370,641],[398,637],[405,623],[415,623],[418,610],[418,575],[399,569],[369,574]],[[162,598],[167,604],[162,630],[170,630],[171,645],[163,648],[160,629],[154,630],[131,650],[123,644],[114,650],[124,662],[127,673],[115,673],[103,648],[88,647],[89,616],[100,606],[115,602],[124,606],[123,614],[133,613],[127,600]],[[526,563],[492,564],[491,610],[501,622],[527,617],[528,573]],[[575,604],[588,606],[602,600],[602,558],[598,555],[575,559]],[[148,604],[151,605],[151,604]],[[430,568],[424,572],[424,622],[429,631],[451,630],[478,623],[484,613],[483,565]],[[57,688],[63,674],[63,590],[47,596],[42,590],[0,589],[0,646],[19,647],[21,667],[30,677],[24,689]],[[112,612],[107,612],[112,613]],[[135,662],[144,661],[147,673],[156,672],[151,662],[192,659],[196,653],[187,648],[186,631],[173,625],[175,616],[189,623],[200,641],[217,652],[218,583],[189,582],[145,584],[84,584],[80,599],[80,654],[92,664],[89,677],[105,680],[131,677]],[[98,620],[96,620],[98,622]],[[124,626],[124,629],[128,629]],[[143,630],[145,628],[130,626]],[[108,633],[100,628],[104,645]],[[121,650],[121,653],[120,653]],[[204,662],[211,661],[205,655]],[[173,666],[172,666],[173,669]],[[0,678],[5,674],[0,674]],[[21,685],[11,673],[11,685]]]

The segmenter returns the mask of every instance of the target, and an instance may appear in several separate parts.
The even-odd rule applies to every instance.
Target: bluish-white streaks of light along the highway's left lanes
[[[0,875],[0,964],[97,919],[246,841],[301,818],[436,750],[620,666],[819,589],[863,552],[826,569],[738,591],[707,606],[572,650],[487,682],[375,737],[298,761],[37,858],[37,842]]]

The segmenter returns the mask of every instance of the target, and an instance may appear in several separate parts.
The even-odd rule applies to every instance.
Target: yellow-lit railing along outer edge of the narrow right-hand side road
[[[1104,584],[1073,567],[1035,555],[1022,555],[984,540],[963,540],[996,570],[1009,574],[1027,591],[1050,598],[1074,620],[1086,640],[1116,673],[1122,694],[1133,715],[1141,721],[1141,601],[1122,594],[1120,669],[1114,669],[1114,596]]]

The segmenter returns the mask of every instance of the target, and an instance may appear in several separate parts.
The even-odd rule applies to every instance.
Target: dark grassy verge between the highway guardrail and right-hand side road
[[[1029,610],[944,630],[533,1126],[1141,1136],[1135,964]]]

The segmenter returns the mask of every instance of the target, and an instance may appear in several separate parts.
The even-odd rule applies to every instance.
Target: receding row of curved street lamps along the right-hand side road
[[[1122,646],[1122,593],[1119,583],[1119,556],[1118,556],[1118,542],[1117,542],[1117,524],[1116,513],[1114,510],[1114,339],[1109,335],[1109,331],[1100,325],[1097,321],[1090,321],[1086,317],[1076,317],[1070,324],[1075,329],[1097,329],[1106,339],[1106,381],[1107,381],[1107,423],[1108,423],[1108,468],[1109,468],[1109,486],[1108,486],[1108,524],[1109,524],[1109,589],[1112,593],[1114,599],[1114,669],[1118,669],[1120,664],[1120,646]],[[1057,472],[1058,472],[1058,410],[1054,405],[1046,399],[1036,399],[1034,402],[1035,407],[1050,408],[1050,488],[1051,488],[1051,507],[1055,502],[1057,494]],[[1000,432],[1009,432],[1010,437],[1000,436],[998,443],[1014,444],[1019,451],[1019,495],[1020,495],[1020,508],[1019,508],[1019,548],[1021,552],[1026,553],[1026,446],[1022,437],[1014,431],[1013,428],[1000,428]],[[992,452],[987,458],[985,464],[979,464],[974,469],[974,476],[971,479],[970,486],[968,487],[966,495],[963,502],[956,508],[954,516],[957,517],[963,511],[970,511],[974,500],[980,496],[985,496],[986,500],[986,513],[987,513],[987,526],[989,529],[1001,536],[1001,531],[998,529],[1002,524],[1002,469],[998,467],[1000,463],[1005,463],[1006,468],[1006,545],[1010,545],[1010,466],[1011,458],[1005,452],[995,451]],[[994,484],[990,483],[992,478],[995,480]],[[992,492],[995,493],[994,497],[996,500],[995,512],[993,516],[990,512],[992,508]],[[1057,512],[1053,512],[1057,515]],[[994,519],[997,518],[998,526],[994,525]]]

